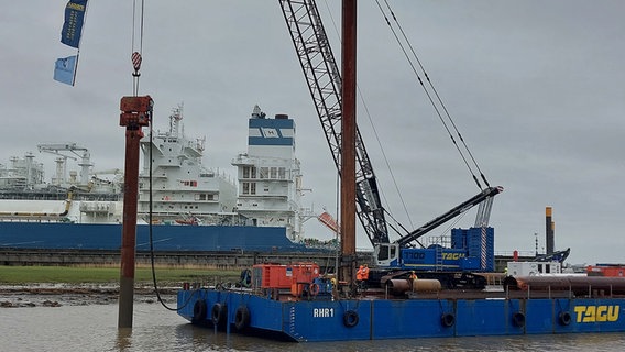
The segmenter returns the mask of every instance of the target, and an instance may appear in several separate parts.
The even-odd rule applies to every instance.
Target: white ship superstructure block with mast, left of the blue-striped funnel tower
[[[169,130],[141,140],[139,213],[149,221],[152,169],[152,221],[179,224],[231,224],[237,186],[226,174],[202,166],[205,139],[182,131],[183,107],[169,116]]]

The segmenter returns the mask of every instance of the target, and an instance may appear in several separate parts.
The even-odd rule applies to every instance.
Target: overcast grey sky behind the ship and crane
[[[207,138],[205,164],[234,177],[254,105],[288,113],[312,188],[305,200],[336,213],[335,167],[277,1],[145,2],[140,94],[155,101],[155,129],[184,102],[186,134]],[[505,188],[491,216],[496,251],[534,252],[535,233],[544,251],[551,206],[556,249],[571,248],[570,263],[625,263],[625,2],[388,3],[489,182]],[[52,165],[39,143],[76,142],[96,169],[123,168],[132,1],[89,2],[75,87],[52,79],[55,59],[75,53],[59,42],[65,4],[0,12],[0,163],[32,151]],[[339,58],[339,1],[318,7]],[[374,128],[362,103],[359,127],[393,216],[414,229],[479,193],[375,1],[359,1],[358,55]],[[471,211],[453,226],[473,221]],[[332,237],[307,223],[307,237]],[[357,246],[370,248],[359,232]]]

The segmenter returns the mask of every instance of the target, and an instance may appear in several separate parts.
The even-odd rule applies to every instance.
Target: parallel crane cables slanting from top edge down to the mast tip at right
[[[448,125],[448,123],[445,121],[445,118],[441,113],[441,109],[445,112],[445,114],[447,116],[447,119],[449,120],[450,124],[452,125],[453,130],[456,131],[456,134],[458,135],[459,140],[462,142],[464,148],[467,150],[467,153],[469,154],[473,165],[475,166],[475,168],[478,169],[478,172],[480,173],[480,176],[482,178],[482,180],[484,182],[484,184],[490,187],[489,182],[486,180],[486,177],[484,176],[484,173],[482,173],[482,169],[480,168],[480,165],[478,164],[478,162],[475,161],[475,158],[473,157],[473,154],[471,153],[471,150],[469,148],[469,146],[467,145],[467,142],[464,141],[464,139],[462,138],[462,134],[460,133],[460,131],[458,130],[458,127],[456,125],[456,123],[453,122],[453,119],[451,118],[451,114],[449,113],[449,110],[447,109],[447,107],[445,106],[445,103],[442,102],[442,99],[440,98],[440,95],[438,94],[437,89],[435,88],[434,84],[431,82],[426,69],[424,68],[419,57],[417,56],[413,45],[410,44],[410,41],[408,40],[408,37],[406,36],[406,33],[404,32],[402,25],[399,24],[399,21],[397,20],[397,16],[395,15],[395,13],[393,12],[393,10],[391,9],[391,6],[388,4],[387,0],[384,0],[384,3],[386,4],[386,8],[388,9],[388,12],[391,13],[396,26],[399,29],[402,36],[404,38],[404,41],[406,42],[406,44],[408,45],[415,61],[417,62],[419,68],[421,69],[424,77],[426,78],[426,80],[428,81],[434,95],[436,96],[438,103],[440,105],[440,108],[437,106],[437,103],[435,102],[432,95],[430,94],[430,91],[428,90],[428,88],[425,86],[424,80],[421,79],[421,76],[419,75],[419,73],[417,72],[417,68],[415,67],[415,64],[413,63],[413,59],[410,58],[410,56],[408,55],[406,47],[404,46],[404,44],[402,43],[401,38],[397,35],[397,32],[395,31],[395,29],[393,28],[393,25],[391,24],[391,21],[388,20],[388,16],[386,15],[386,12],[384,11],[384,9],[382,8],[382,6],[380,4],[379,0],[375,0],[375,2],[377,3],[377,7],[380,9],[380,11],[382,12],[384,20],[386,21],[386,24],[388,25],[388,28],[391,29],[393,35],[395,36],[395,40],[397,41],[397,44],[399,45],[399,47],[402,48],[402,52],[404,53],[406,59],[408,61],[408,64],[410,65],[413,73],[415,74],[415,76],[417,77],[421,88],[424,89],[424,91],[426,92],[426,96],[428,97],[431,106],[434,107],[440,122],[442,123],[442,125],[445,127],[445,129],[447,130],[447,133],[449,134],[449,138],[451,139],[453,145],[456,146],[456,148],[458,150],[458,153],[460,154],[460,156],[462,157],[462,161],[464,162],[464,164],[467,165],[467,168],[469,169],[469,173],[471,174],[471,176],[473,177],[473,180],[475,182],[475,184],[478,185],[478,187],[480,189],[482,189],[482,185],[480,184],[478,177],[475,176],[475,174],[473,173],[473,168],[470,166],[467,157],[464,156],[464,153],[462,152],[462,150],[460,148],[460,146],[458,145],[458,143],[456,142],[456,139],[453,138],[453,134],[451,133],[451,130]]]

